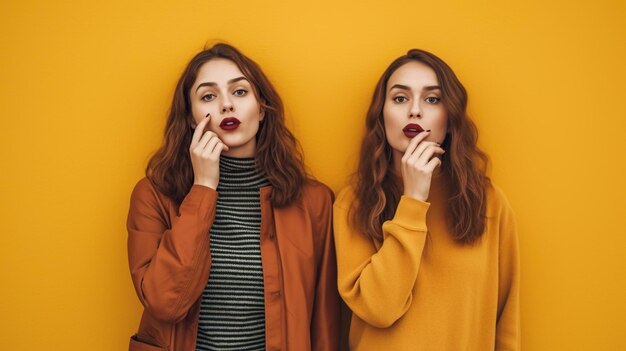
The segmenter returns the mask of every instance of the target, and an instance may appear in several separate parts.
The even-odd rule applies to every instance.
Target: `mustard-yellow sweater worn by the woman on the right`
[[[382,243],[349,225],[354,195],[334,205],[338,287],[352,310],[351,350],[519,350],[519,248],[513,212],[487,193],[486,230],[456,243],[435,178],[428,202],[403,196]]]

